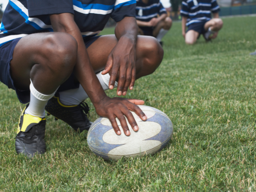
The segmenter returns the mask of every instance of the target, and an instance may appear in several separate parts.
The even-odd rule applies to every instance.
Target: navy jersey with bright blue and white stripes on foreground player
[[[9,0],[0,25],[0,46],[32,33],[53,32],[50,14],[71,13],[83,38],[99,34],[109,17],[135,17],[136,0]]]

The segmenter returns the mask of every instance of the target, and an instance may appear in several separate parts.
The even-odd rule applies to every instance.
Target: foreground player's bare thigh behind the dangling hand
[[[115,35],[104,35],[87,48],[90,62],[95,72],[104,69],[108,56],[117,42],[118,40]],[[136,70],[139,71],[143,67],[142,60],[144,58],[150,57],[150,61],[153,61],[154,57],[158,57],[158,55],[161,54],[162,48],[156,38],[151,36],[138,36],[136,42]],[[156,60],[157,59],[158,58],[156,58]]]

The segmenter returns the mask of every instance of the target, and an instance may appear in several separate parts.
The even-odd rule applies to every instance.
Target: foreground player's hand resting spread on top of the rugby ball
[[[146,121],[147,120],[146,115],[137,106],[137,105],[143,105],[143,104],[144,104],[143,100],[125,99],[120,97],[109,98],[108,96],[106,96],[104,97],[103,100],[101,100],[99,104],[97,104],[97,106],[95,106],[95,109],[96,109],[96,113],[99,116],[107,117],[110,120],[114,128],[114,131],[116,132],[116,134],[120,135],[121,131],[116,122],[116,118],[118,118],[124,130],[124,133],[126,134],[126,136],[129,136],[130,130],[128,128],[128,125],[124,116],[126,116],[132,129],[134,131],[138,131],[139,127],[130,111],[135,112],[143,121]]]

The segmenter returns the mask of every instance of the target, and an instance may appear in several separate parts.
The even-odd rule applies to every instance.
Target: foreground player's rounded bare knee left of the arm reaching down
[[[70,71],[76,64],[77,42],[67,33],[48,34],[44,39],[42,50],[43,54],[53,61],[52,69]]]

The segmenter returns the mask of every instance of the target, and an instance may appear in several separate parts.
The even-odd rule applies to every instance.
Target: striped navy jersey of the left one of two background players
[[[145,4],[142,0],[136,2],[136,19],[140,21],[150,21],[157,15],[166,14],[166,9],[160,3],[160,0],[148,0]]]

